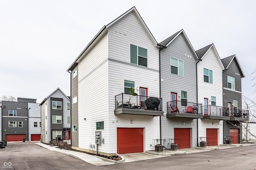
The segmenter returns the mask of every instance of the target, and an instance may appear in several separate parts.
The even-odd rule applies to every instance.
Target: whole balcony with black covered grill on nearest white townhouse
[[[162,116],[162,98],[149,96],[133,96],[132,94],[118,94],[115,96],[116,106],[114,114]]]

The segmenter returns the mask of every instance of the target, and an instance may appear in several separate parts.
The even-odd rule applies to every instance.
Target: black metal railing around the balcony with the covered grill
[[[133,96],[132,94],[118,94],[115,96],[116,109],[131,108],[131,109],[147,109],[162,111],[162,98],[149,96]]]

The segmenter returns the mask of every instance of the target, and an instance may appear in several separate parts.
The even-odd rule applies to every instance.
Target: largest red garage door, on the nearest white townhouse
[[[117,128],[117,152],[143,152],[143,128]]]

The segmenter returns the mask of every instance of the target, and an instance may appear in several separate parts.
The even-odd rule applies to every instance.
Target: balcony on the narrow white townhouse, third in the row
[[[204,109],[204,119],[230,120],[225,107],[207,105],[202,108]]]

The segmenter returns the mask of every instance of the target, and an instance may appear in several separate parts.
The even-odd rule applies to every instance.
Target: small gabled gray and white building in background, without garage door
[[[57,88],[41,103],[42,141],[49,143],[56,137],[70,141],[70,99]]]

